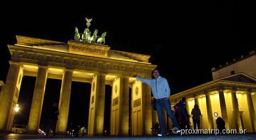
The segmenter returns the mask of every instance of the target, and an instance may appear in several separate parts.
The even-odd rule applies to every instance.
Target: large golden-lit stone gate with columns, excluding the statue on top
[[[131,132],[151,134],[151,90],[131,76],[151,77],[156,68],[150,56],[110,50],[109,46],[68,40],[67,43],[16,36],[17,43],[8,45],[11,60],[5,84],[1,82],[0,130],[10,131],[14,107],[18,102],[23,76],[35,76],[36,83],[28,116],[29,133],[38,132],[47,78],[62,80],[59,118],[56,131],[65,134],[68,123],[72,81],[88,82],[91,93],[88,134],[102,135],[104,124],[105,85],[112,86],[110,133],[127,136],[129,108]],[[129,88],[132,88],[129,106]]]

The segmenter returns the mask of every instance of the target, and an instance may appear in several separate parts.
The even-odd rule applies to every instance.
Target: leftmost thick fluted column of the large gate
[[[4,91],[0,101],[0,130],[5,131],[8,122],[9,114],[12,110],[12,99],[15,92],[15,87],[18,80],[20,64],[10,62],[8,75],[4,84]],[[13,121],[13,120],[12,120]]]

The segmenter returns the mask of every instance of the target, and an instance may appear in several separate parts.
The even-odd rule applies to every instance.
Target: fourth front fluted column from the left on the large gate
[[[94,120],[94,133],[97,136],[103,135],[105,82],[106,82],[106,74],[98,74],[97,88],[95,93],[95,120]]]

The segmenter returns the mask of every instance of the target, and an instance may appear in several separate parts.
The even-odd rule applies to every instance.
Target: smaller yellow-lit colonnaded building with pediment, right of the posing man
[[[170,96],[172,110],[182,97],[186,97],[186,108],[190,114],[194,104],[198,104],[201,116],[201,129],[216,129],[214,113],[226,122],[226,129],[246,129],[256,132],[256,54],[251,51],[239,60],[226,62],[225,66],[212,68],[213,80],[194,88]],[[153,122],[157,122],[156,111]],[[172,128],[170,118],[167,128]],[[191,124],[193,125],[193,123]]]

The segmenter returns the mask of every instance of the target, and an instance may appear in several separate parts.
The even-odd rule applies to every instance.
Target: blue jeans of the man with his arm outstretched
[[[174,127],[178,128],[180,130],[180,126],[178,125],[176,117],[171,112],[170,99],[168,99],[166,101],[164,99],[165,98],[156,100],[156,111],[158,114],[160,133],[165,133],[163,107],[166,110],[166,114],[168,115],[168,117],[171,118],[172,123],[174,124]]]

